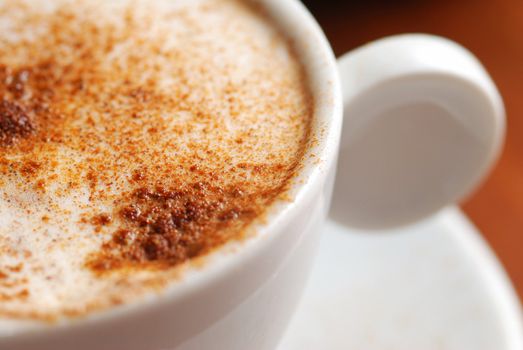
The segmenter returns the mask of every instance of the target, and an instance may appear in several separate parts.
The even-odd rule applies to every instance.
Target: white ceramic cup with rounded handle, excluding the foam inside
[[[504,111],[468,51],[434,36],[403,35],[336,63],[301,3],[257,2],[294,43],[315,98],[318,142],[294,199],[272,208],[255,237],[231,242],[164,294],[54,325],[0,323],[0,349],[275,349],[312,265],[338,153],[331,214],[360,227],[418,220],[462,199],[487,173],[501,148]]]

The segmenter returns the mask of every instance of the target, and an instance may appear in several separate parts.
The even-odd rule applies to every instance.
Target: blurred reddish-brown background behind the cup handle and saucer
[[[508,135],[493,174],[463,208],[497,253],[523,299],[523,1],[304,2],[338,56],[386,35],[424,32],[461,43],[483,62],[504,98]]]

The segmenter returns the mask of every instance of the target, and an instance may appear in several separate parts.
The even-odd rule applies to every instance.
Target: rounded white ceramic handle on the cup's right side
[[[481,63],[436,36],[385,38],[339,59],[343,132],[331,217],[420,220],[469,195],[503,144],[502,99]]]

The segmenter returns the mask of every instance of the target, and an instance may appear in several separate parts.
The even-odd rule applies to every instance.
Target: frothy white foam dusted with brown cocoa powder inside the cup
[[[137,301],[280,200],[312,105],[239,0],[0,1],[0,319]]]

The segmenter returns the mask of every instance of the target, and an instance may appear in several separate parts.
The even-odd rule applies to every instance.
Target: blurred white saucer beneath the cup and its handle
[[[501,265],[457,208],[387,233],[325,226],[278,350],[522,350]]]

